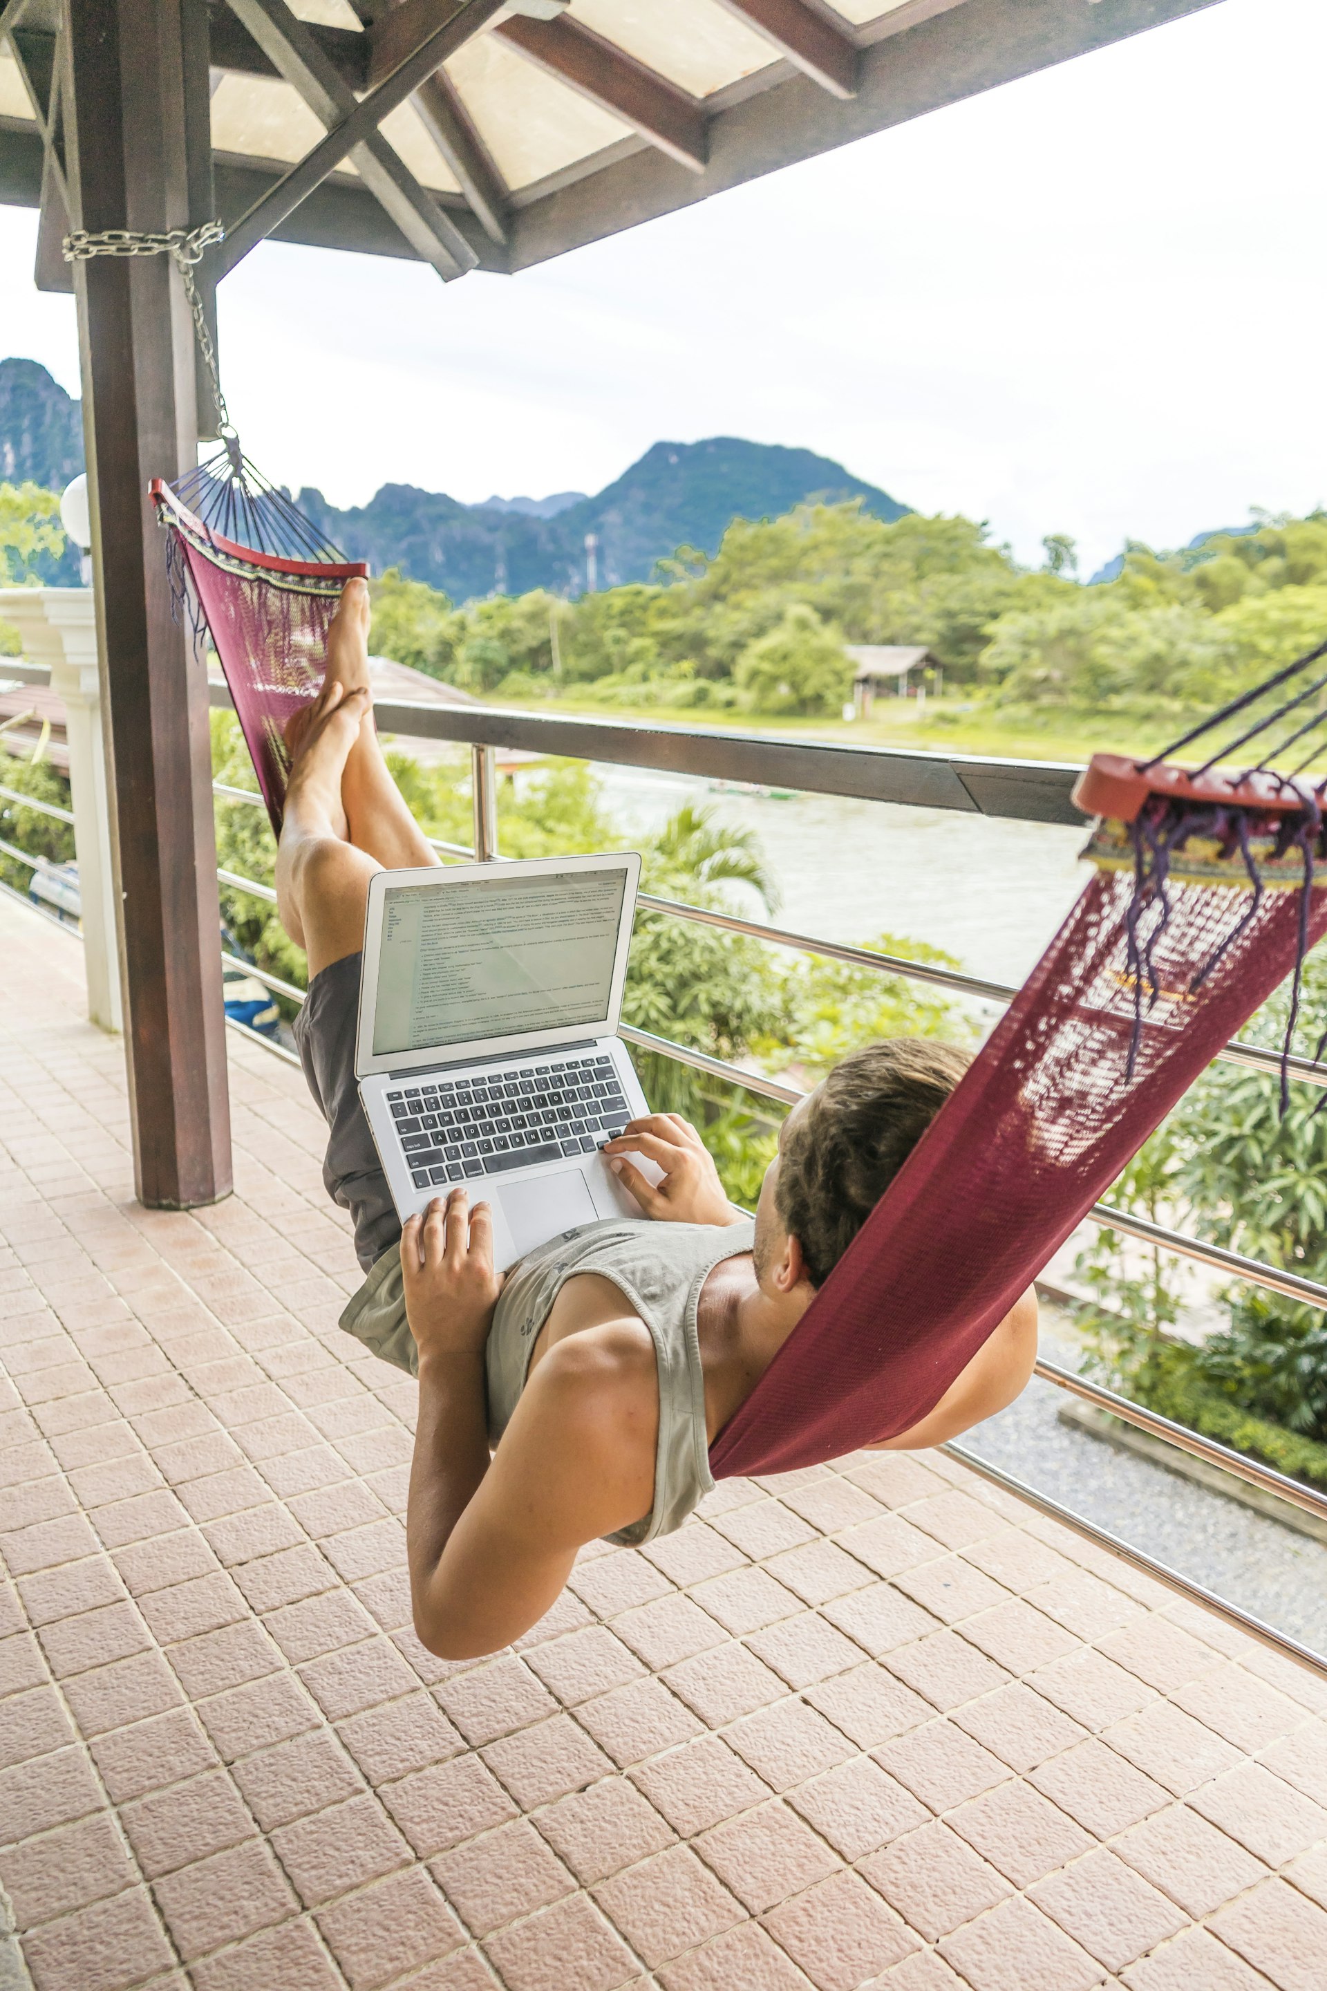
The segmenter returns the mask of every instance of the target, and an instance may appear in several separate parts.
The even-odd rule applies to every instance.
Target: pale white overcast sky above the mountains
[[[1104,0],[1110,6],[1110,0]],[[657,440],[812,448],[1082,573],[1327,502],[1321,0],[1188,20],[523,275],[269,243],[221,289],[277,482],[595,492]],[[78,392],[0,207],[0,352]]]

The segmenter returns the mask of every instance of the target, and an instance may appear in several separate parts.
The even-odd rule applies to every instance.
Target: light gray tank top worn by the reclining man
[[[659,1449],[655,1505],[645,1519],[609,1535],[627,1547],[670,1535],[712,1489],[704,1430],[704,1376],[696,1304],[724,1258],[752,1248],[754,1224],[663,1224],[611,1217],[563,1230],[507,1274],[487,1338],[487,1414],[493,1443],[525,1388],[529,1354],[553,1300],[577,1272],[611,1280],[655,1342],[659,1364]]]

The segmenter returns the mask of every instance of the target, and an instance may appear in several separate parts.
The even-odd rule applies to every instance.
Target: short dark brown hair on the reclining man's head
[[[971,1061],[971,1051],[935,1037],[867,1043],[788,1125],[774,1207],[814,1286],[844,1256]]]

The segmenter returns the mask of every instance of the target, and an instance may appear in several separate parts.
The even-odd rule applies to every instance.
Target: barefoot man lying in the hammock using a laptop
[[[784,1121],[756,1218],[728,1203],[676,1113],[605,1145],[639,1203],[559,1234],[505,1274],[485,1203],[436,1197],[400,1228],[354,1075],[368,880],[438,856],[392,780],[368,689],[368,589],[350,581],[326,681],[292,727],[277,856],[286,932],[308,954],[296,1039],[328,1119],[324,1181],[368,1276],[342,1328],[418,1374],[408,1501],[416,1631],[444,1659],[519,1639],[577,1549],[649,1541],[710,1491],[708,1445],[746,1402],[967,1057],[927,1039],[852,1053]],[[645,1155],[663,1177],[633,1165]],[[941,1443],[1003,1410],[1037,1354],[1027,1292],[935,1408],[887,1449]]]

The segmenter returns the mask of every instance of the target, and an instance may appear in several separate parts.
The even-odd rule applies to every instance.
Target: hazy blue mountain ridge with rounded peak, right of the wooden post
[[[657,442],[595,498],[561,492],[557,500],[464,506],[414,484],[384,484],[348,512],[316,490],[302,490],[298,504],[352,559],[368,559],[378,573],[400,567],[470,601],[531,587],[581,593],[587,534],[599,542],[599,587],[647,581],[678,546],[714,553],[734,518],[780,518],[806,498],[861,498],[883,520],[907,512],[828,456],[736,436]]]

